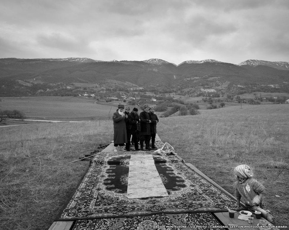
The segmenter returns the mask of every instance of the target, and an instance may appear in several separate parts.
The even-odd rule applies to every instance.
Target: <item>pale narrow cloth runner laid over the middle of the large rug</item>
[[[126,196],[130,199],[168,196],[152,155],[131,155]]]

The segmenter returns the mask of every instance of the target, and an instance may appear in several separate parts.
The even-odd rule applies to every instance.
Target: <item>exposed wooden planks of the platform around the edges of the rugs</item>
[[[156,134],[156,136],[155,136],[155,141],[161,141],[158,134]],[[113,146],[113,141],[112,141],[110,143],[110,145],[108,145],[101,152],[113,152],[113,147],[114,146]],[[176,155],[176,157],[179,158],[180,160],[183,160],[179,155]],[[223,192],[232,196],[229,192],[227,192],[225,189],[223,189],[221,186],[219,186],[216,182],[212,181],[210,178],[208,178],[208,176],[206,176],[204,173],[202,173],[200,170],[198,170],[194,165],[192,165],[191,163],[185,163],[185,161],[184,161],[184,164],[187,165],[188,167],[190,167],[196,173],[203,176],[208,181],[210,181],[212,184],[214,184],[220,190],[222,190]],[[248,221],[243,221],[243,220],[238,219],[238,215],[240,215],[239,212],[235,213],[234,218],[230,218],[228,212],[214,213],[214,215],[219,219],[219,221],[221,221],[223,226],[252,226],[252,224],[249,224]],[[252,217],[254,217],[253,226],[256,226],[259,223],[259,220],[256,219],[255,214],[253,214]],[[261,219],[266,221],[264,218],[261,218]],[[266,222],[272,226],[271,223],[269,223],[268,221],[266,221]],[[54,221],[48,230],[69,230],[70,227],[72,226],[72,224],[73,224],[73,221]],[[184,223],[183,225],[186,225],[186,223]],[[247,228],[245,228],[245,227],[235,228],[234,227],[234,229],[242,229],[242,230],[246,229],[246,230],[248,230],[249,228],[248,227]],[[258,229],[258,228],[256,228],[256,229]],[[272,230],[279,230],[279,229],[272,228]]]

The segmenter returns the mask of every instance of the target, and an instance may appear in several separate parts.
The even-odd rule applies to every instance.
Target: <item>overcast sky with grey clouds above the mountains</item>
[[[5,57],[288,62],[289,1],[1,1]]]

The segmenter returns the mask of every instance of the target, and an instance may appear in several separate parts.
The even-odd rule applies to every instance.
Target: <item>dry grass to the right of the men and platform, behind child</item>
[[[239,164],[250,165],[266,188],[265,207],[272,210],[276,223],[289,226],[289,106],[236,109],[164,118],[158,123],[158,134],[185,161],[231,194],[233,169]]]

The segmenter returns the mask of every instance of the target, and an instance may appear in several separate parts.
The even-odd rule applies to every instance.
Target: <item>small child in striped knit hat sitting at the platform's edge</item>
[[[273,222],[273,215],[269,210],[262,208],[262,197],[264,196],[265,188],[256,179],[253,179],[253,172],[248,165],[238,165],[234,169],[234,173],[237,176],[235,183],[235,196],[237,198],[237,204],[235,208],[240,207],[240,199],[243,197],[244,203],[249,211],[259,211],[262,217],[267,221]]]

